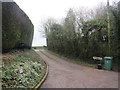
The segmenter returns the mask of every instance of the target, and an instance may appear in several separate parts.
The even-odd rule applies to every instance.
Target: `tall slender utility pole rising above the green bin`
[[[108,20],[108,47],[109,47],[109,55],[110,55],[110,16],[109,16],[110,8],[109,8],[109,0],[107,0],[107,20]]]

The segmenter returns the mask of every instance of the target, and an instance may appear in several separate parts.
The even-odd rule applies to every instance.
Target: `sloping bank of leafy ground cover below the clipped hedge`
[[[2,88],[34,88],[43,78],[46,64],[33,50],[3,54]]]

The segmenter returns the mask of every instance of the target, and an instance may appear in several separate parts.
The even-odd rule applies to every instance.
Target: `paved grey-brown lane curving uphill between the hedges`
[[[48,77],[41,88],[118,88],[117,72],[73,64],[43,49],[36,52],[49,65]]]

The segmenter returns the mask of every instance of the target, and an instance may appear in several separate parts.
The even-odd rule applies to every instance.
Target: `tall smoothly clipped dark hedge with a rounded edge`
[[[15,2],[2,3],[2,51],[31,48],[34,26]]]

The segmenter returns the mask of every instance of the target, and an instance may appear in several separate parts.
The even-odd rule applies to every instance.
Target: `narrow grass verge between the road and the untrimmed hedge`
[[[59,57],[59,58],[62,58],[66,61],[70,61],[72,63],[76,63],[76,64],[79,64],[79,65],[84,65],[84,66],[88,66],[88,67],[93,67],[93,68],[97,68],[97,64],[99,63],[98,61],[94,61],[94,60],[82,60],[82,59],[79,59],[79,58],[75,58],[75,57],[70,57],[70,56],[64,56],[62,54],[59,54],[57,52],[53,52],[51,50],[48,50],[47,48],[43,47],[41,49],[45,49],[47,50],[49,53]],[[45,53],[44,53],[45,54]],[[102,61],[102,67],[104,69],[104,62]],[[105,70],[105,69],[104,69]],[[118,67],[118,64],[112,64],[112,71],[118,71],[120,70],[120,67]]]

